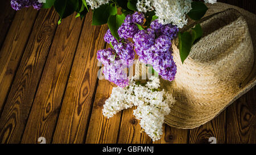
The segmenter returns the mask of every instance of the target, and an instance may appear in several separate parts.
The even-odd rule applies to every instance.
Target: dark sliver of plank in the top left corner
[[[1,2],[0,5],[0,47],[2,47],[6,34],[13,22],[15,10],[11,8],[10,1]],[[1,52],[1,51],[0,51]]]

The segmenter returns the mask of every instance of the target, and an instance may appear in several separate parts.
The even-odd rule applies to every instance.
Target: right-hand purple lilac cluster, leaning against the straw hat
[[[134,36],[135,51],[141,62],[152,65],[163,79],[172,81],[176,64],[172,57],[171,40],[177,36],[178,28],[172,24],[160,24],[158,19],[150,26]]]

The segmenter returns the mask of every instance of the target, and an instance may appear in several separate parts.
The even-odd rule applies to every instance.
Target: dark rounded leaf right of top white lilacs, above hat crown
[[[208,10],[208,7],[203,2],[192,2],[192,9],[188,12],[188,16],[193,20],[199,20]]]

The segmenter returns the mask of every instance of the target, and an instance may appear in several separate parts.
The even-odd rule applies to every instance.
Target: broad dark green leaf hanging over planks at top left
[[[56,0],[54,2],[55,10],[59,13],[60,18],[66,18],[73,14],[74,11],[79,7],[78,0]]]

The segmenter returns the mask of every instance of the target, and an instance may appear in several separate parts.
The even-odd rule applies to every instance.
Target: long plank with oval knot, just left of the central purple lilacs
[[[52,143],[85,142],[99,69],[96,53],[104,48],[108,28],[92,26],[92,11],[85,21]]]

